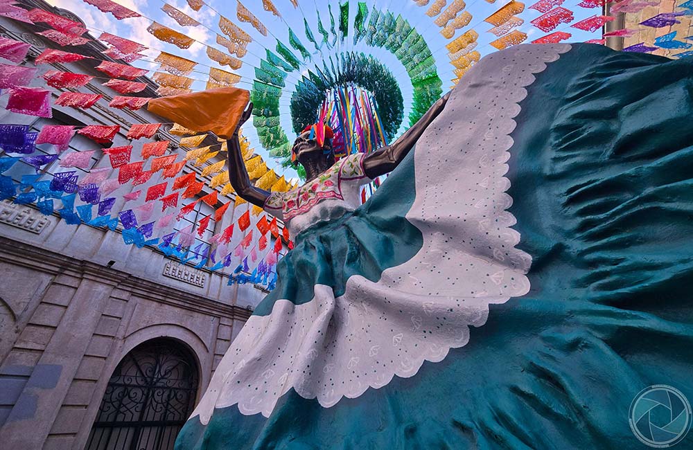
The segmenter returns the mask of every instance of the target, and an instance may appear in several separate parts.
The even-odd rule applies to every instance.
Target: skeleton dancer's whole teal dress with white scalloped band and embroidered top
[[[484,57],[362,206],[358,156],[272,197],[295,248],[177,449],[644,448],[638,393],[693,399],[692,117],[687,60]]]

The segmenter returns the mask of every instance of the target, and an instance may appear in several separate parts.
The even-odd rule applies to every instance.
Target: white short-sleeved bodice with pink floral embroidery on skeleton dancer
[[[364,153],[347,156],[300,188],[272,192],[265,211],[282,219],[292,235],[317,222],[341,217],[360,206],[360,186],[369,183],[363,170]]]

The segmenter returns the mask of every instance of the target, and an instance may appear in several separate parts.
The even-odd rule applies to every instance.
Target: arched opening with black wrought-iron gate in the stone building
[[[198,366],[184,344],[152,339],[108,381],[85,450],[168,450],[193,411]]]

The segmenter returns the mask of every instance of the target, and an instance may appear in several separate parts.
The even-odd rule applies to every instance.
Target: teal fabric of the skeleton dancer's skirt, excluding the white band
[[[641,390],[693,400],[693,61],[575,44],[520,107],[506,177],[532,257],[525,296],[490,305],[466,345],[412,377],[330,407],[290,389],[269,417],[216,408],[176,448],[644,448],[629,424]],[[412,258],[416,169],[412,153],[361,208],[297,236],[254,314]]]

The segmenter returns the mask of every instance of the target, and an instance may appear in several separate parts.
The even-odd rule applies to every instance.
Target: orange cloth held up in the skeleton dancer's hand
[[[147,109],[194,132],[213,132],[230,139],[249,100],[250,93],[245,89],[222,87],[155,98],[149,101]]]

